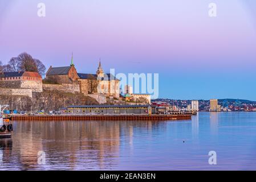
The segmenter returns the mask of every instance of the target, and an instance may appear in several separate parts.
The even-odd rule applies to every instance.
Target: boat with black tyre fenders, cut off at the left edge
[[[0,105],[0,138],[11,138],[11,132],[13,131],[13,124],[11,123],[11,115],[3,114],[3,111],[9,107],[9,105]]]

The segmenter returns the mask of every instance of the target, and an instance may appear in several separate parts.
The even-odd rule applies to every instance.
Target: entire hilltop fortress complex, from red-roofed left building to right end
[[[107,103],[107,99],[117,101],[123,98],[120,94],[120,80],[104,73],[100,61],[96,74],[78,73],[73,58],[67,67],[51,66],[44,79],[37,72],[0,72],[0,95],[32,98],[33,93],[54,90],[83,94],[94,98],[99,104]],[[124,100],[129,101],[131,97],[145,97],[148,104],[151,101],[150,95],[147,94],[131,94],[129,98],[124,97]]]

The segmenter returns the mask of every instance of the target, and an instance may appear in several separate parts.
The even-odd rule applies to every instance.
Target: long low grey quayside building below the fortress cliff
[[[68,106],[62,114],[151,114],[150,105],[84,105]]]

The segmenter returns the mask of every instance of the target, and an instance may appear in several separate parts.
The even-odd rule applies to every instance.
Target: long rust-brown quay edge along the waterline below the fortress
[[[152,115],[13,115],[12,121],[169,121],[191,119],[190,114]]]

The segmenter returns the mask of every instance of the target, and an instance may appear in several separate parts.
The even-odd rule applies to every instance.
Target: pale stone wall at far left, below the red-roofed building
[[[2,95],[2,96],[29,96],[30,98],[32,98],[32,89],[0,88],[0,95]]]

